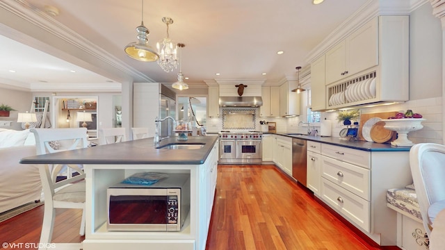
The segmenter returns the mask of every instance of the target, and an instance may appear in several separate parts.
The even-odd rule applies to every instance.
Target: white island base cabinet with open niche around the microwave
[[[83,249],[204,250],[216,187],[218,144],[201,165],[88,165],[86,172],[86,239]],[[108,231],[106,190],[136,172],[190,174],[190,212],[179,232]]]

